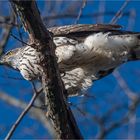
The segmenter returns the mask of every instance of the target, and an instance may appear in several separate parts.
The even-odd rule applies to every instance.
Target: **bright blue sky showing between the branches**
[[[44,8],[44,1],[38,1],[38,6],[40,9],[40,12],[42,16],[47,15],[53,15],[53,14],[62,14],[66,7],[68,7],[71,2],[74,1],[67,1],[62,4],[61,8],[57,11],[57,13],[52,12],[49,13],[49,8],[46,10],[46,12],[43,11]],[[81,1],[79,1],[80,3]],[[87,1],[87,4],[85,8],[83,9],[82,14],[91,14],[91,13],[97,13],[99,12],[99,8],[102,5],[104,5],[104,9],[102,9],[105,13],[107,12],[117,12],[124,1]],[[6,5],[6,4],[4,4]],[[6,6],[5,6],[6,7]],[[5,8],[6,9],[6,8]],[[3,14],[7,14],[6,10],[3,10]],[[132,11],[132,14],[134,15],[134,18],[131,19],[131,22],[129,21],[129,17],[121,17],[117,24],[122,25],[123,29],[128,29],[129,25],[132,24],[130,30],[140,32],[140,1],[130,1],[128,5],[123,10],[124,13]],[[78,12],[78,9],[77,9]],[[63,13],[64,14],[64,13]],[[109,23],[112,19],[113,15],[107,16],[106,14],[103,15],[103,23]],[[73,24],[75,19],[61,19],[56,22],[56,25],[65,25],[65,24]],[[79,23],[87,23],[87,24],[94,24],[97,23],[97,20],[95,18],[81,18],[79,20]],[[18,35],[17,29],[14,29],[12,31],[14,34]],[[27,38],[27,37],[26,37]],[[10,50],[11,48],[19,47],[21,44],[14,40],[13,38],[9,39],[9,42],[6,46],[6,51]],[[139,94],[140,92],[140,62],[129,62],[127,64],[124,64],[117,68],[117,70],[120,72],[123,79],[126,81],[128,87],[133,92],[137,92]],[[28,102],[32,96],[32,89],[31,85],[28,81],[25,80],[15,80],[9,77],[18,77],[22,78],[19,72],[14,71],[12,69],[9,69],[4,66],[0,66],[0,90],[1,92],[7,93],[19,100]],[[102,116],[108,109],[110,109],[112,106],[117,104],[125,104],[128,106],[129,99],[124,94],[124,91],[119,86],[116,78],[113,75],[109,75],[99,81],[96,81],[93,83],[93,86],[88,90],[90,95],[95,96],[94,99],[87,98],[83,99],[84,97],[73,97],[69,100],[73,104],[81,104],[82,100],[86,101],[84,105],[78,105],[81,109],[86,111],[88,116],[83,116],[75,107],[72,107],[75,117],[77,119],[79,128],[82,131],[82,134],[85,138],[93,138],[96,136],[99,127],[97,126],[96,122],[93,121],[93,116]],[[4,101],[0,101],[1,106],[1,117],[0,117],[0,139],[4,138],[7,134],[9,128],[13,124],[13,122],[16,120],[20,112],[22,111],[19,108],[10,106],[9,104],[5,103]],[[114,122],[116,120],[119,120],[124,114],[126,113],[126,108],[121,108],[116,110],[106,122],[106,126],[110,124],[111,122]],[[140,117],[139,113],[139,106],[136,112],[137,119]],[[4,129],[3,129],[3,127]],[[139,122],[135,125],[135,138],[140,138],[139,129],[140,129]],[[31,132],[29,130],[34,128]],[[123,125],[121,128],[114,129],[114,131],[110,132],[106,139],[109,138],[128,138],[128,129],[129,125]],[[23,119],[20,126],[17,128],[14,137],[13,138],[50,138],[50,135],[46,132],[45,128],[42,126],[41,123],[36,121],[35,119],[32,119],[29,115],[26,115],[26,117]]]

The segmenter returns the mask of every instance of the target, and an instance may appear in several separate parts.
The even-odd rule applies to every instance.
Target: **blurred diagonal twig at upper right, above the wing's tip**
[[[122,14],[123,14],[123,10],[124,8],[127,6],[128,2],[130,0],[126,0],[123,5],[121,6],[121,8],[118,10],[118,12],[116,13],[116,15],[112,18],[112,20],[110,21],[111,24],[116,24],[116,22],[118,21],[119,18],[121,18]]]

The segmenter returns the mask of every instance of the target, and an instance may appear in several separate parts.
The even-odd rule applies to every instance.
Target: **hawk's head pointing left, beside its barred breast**
[[[0,64],[8,65],[14,69],[18,68],[18,54],[21,48],[8,51],[0,57]]]

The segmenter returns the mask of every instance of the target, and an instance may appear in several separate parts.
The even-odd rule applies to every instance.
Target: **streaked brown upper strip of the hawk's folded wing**
[[[72,34],[81,34],[81,33],[91,33],[97,31],[108,31],[108,30],[117,30],[120,29],[120,25],[112,24],[77,24],[77,25],[66,25],[60,27],[49,28],[49,31],[54,34],[54,36],[68,36]]]

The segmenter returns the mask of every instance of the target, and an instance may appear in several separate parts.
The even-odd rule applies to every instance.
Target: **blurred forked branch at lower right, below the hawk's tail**
[[[140,104],[140,96],[138,94],[135,94],[134,92],[132,92],[128,88],[126,82],[121,77],[120,73],[116,70],[113,73],[113,75],[117,79],[118,84],[120,85],[120,87],[124,90],[124,93],[128,96],[128,98],[129,98],[131,103],[130,103],[130,105],[128,107],[128,111],[126,112],[126,114],[123,115],[122,118],[119,121],[112,122],[107,128],[104,127],[106,119],[109,117],[109,115],[111,113],[113,113],[116,110],[116,108],[112,108],[109,112],[107,112],[101,118],[97,118],[97,117],[95,118],[94,117],[94,119],[97,120],[97,122],[99,123],[99,126],[100,126],[100,131],[99,131],[99,134],[97,136],[97,139],[103,139],[109,133],[111,133],[114,129],[119,128],[124,124],[128,124],[130,122],[130,120],[133,119],[134,114],[136,112],[136,109],[137,109],[138,105]]]

